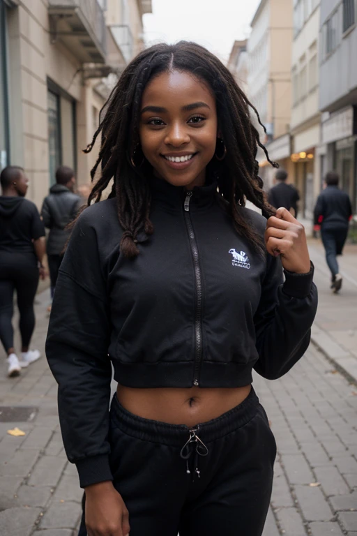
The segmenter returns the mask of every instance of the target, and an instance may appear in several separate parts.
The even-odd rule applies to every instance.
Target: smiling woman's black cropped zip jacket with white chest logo
[[[310,342],[317,289],[240,236],[215,185],[186,193],[153,179],[151,237],[125,258],[116,201],[75,225],[52,305],[46,352],[59,384],[68,459],[81,486],[112,479],[112,378],[129,387],[241,387],[273,380]],[[266,220],[240,207],[261,237]]]

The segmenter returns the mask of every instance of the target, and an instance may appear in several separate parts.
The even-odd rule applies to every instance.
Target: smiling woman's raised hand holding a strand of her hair
[[[280,208],[266,224],[266,249],[282,260],[287,271],[307,274],[310,271],[310,255],[307,249],[305,228],[287,209]]]

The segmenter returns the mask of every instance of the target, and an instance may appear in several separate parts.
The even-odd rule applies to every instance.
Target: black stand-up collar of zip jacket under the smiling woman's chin
[[[165,181],[165,179],[160,179],[154,175],[151,175],[149,184],[154,202],[169,209],[183,210],[183,203],[188,192],[184,186],[173,186]],[[216,193],[216,181],[205,184],[204,186],[195,186],[192,189],[190,210],[195,211],[211,207]]]

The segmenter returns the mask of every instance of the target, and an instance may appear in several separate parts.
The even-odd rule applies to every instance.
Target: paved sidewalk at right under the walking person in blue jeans
[[[357,383],[357,245],[347,244],[344,255],[338,258],[343,284],[342,290],[334,295],[321,241],[309,242],[319,289],[312,341]]]

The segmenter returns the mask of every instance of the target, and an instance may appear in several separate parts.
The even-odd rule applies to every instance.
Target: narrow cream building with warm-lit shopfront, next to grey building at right
[[[319,112],[319,0],[294,0],[291,55],[291,161],[300,193],[300,211],[312,220],[321,191]]]

